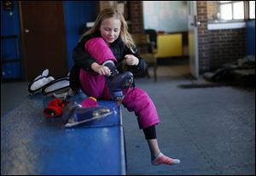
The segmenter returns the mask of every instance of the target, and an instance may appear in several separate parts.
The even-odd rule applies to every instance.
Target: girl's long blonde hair
[[[128,26],[123,14],[119,13],[117,9],[113,9],[113,8],[103,9],[101,13],[98,14],[94,26],[92,26],[90,30],[85,31],[82,37],[87,36],[89,34],[93,34],[96,31],[100,31],[102,20],[112,18],[112,17],[115,17],[116,19],[121,21],[121,28],[120,28],[119,35],[123,43],[125,43],[125,46],[128,48],[131,48],[131,51],[133,51],[135,48],[134,41],[131,37],[131,34],[128,32]],[[80,40],[82,39],[82,37],[80,38]]]

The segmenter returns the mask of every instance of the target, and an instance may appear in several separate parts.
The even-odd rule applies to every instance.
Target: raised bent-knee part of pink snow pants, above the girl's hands
[[[90,54],[91,57],[95,58],[97,63],[102,65],[107,60],[113,60],[117,62],[108,44],[103,40],[102,37],[95,37],[88,40],[84,44],[85,50]]]

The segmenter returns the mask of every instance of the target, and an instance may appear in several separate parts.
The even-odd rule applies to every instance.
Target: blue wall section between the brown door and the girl
[[[63,7],[66,23],[68,69],[70,70],[73,66],[73,48],[81,36],[79,29],[85,27],[86,22],[96,20],[96,2],[64,1]]]

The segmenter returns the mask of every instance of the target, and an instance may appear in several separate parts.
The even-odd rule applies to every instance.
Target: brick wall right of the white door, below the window
[[[197,1],[197,13],[201,21],[198,27],[200,73],[214,71],[225,63],[235,62],[245,56],[245,28],[207,30],[207,1]]]

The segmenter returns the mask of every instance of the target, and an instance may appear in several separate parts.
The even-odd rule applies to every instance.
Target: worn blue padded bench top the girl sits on
[[[73,96],[81,103],[86,95]],[[47,119],[44,107],[53,98],[28,96],[1,118],[1,175],[126,174],[125,139],[120,106],[99,100],[113,113],[99,121],[64,128]]]

